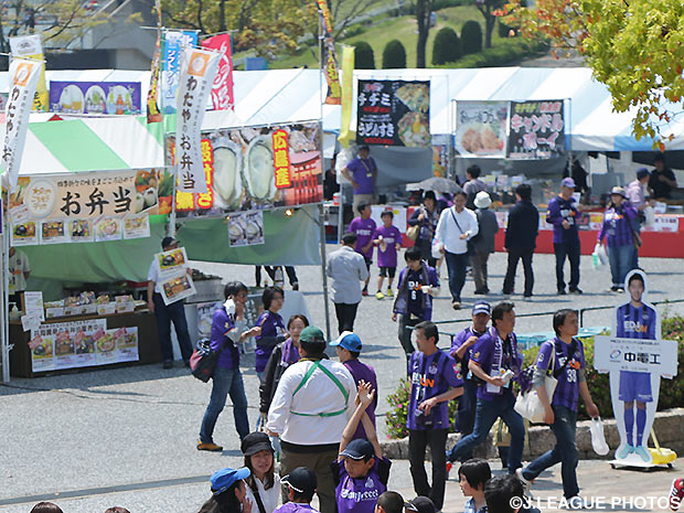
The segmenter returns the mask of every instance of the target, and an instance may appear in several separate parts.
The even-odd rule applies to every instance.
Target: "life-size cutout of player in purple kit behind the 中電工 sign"
[[[660,338],[658,312],[642,301],[645,280],[642,272],[635,271],[629,277],[627,288],[630,302],[616,309],[616,336],[622,339]],[[616,458],[624,459],[634,452],[645,462],[651,461],[646,449],[649,436],[644,437],[646,426],[646,403],[653,402],[651,374],[648,372],[620,371],[618,397],[624,403],[624,432],[627,445],[618,449]],[[634,416],[634,405],[637,415]],[[637,418],[637,438],[634,438],[634,417]]]

